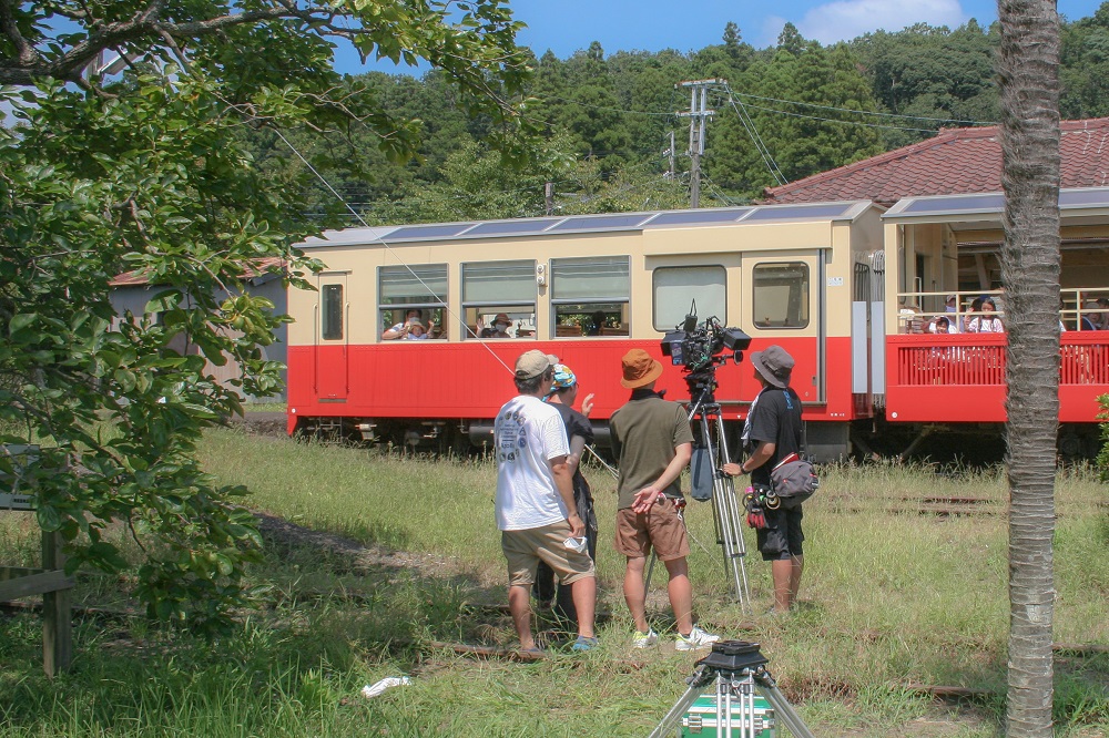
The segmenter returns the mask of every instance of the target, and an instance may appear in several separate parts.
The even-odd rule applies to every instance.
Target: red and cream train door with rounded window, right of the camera
[[[741,326],[752,349],[777,344],[793,356],[792,387],[805,403],[827,401],[825,250],[742,255]]]

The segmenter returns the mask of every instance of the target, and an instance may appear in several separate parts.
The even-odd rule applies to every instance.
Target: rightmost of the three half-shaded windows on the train
[[[627,336],[627,256],[551,259],[556,337]]]

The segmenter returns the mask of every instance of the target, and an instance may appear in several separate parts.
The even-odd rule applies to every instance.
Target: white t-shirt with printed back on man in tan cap
[[[497,527],[523,531],[568,516],[548,461],[570,453],[558,410],[537,397],[505,403],[494,426],[497,451]]]

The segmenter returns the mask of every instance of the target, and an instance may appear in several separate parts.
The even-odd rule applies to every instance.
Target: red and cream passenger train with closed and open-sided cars
[[[998,211],[981,203],[927,209],[924,199],[888,213],[859,201],[328,232],[303,245],[327,265],[316,291],[288,296],[288,430],[437,450],[480,444],[515,392],[516,357],[539,348],[596,394],[591,419],[603,439],[627,400],[620,357],[630,348],[663,360],[659,387],[670,399],[689,397],[661,341],[694,305],[701,320],[715,317],[750,335],[749,351],[777,344],[794,356],[793,387],[818,459],[869,448],[891,426],[917,432],[999,423],[1004,335],[924,331],[944,310],[945,290],[991,286],[970,289],[974,275],[963,274],[963,262],[975,263],[984,247],[976,239],[971,253],[959,239],[995,239],[988,224]],[[1065,212],[1082,221],[1075,227],[1103,234],[1109,228],[1089,225],[1109,223],[1090,209],[1105,209],[1095,201],[1087,195]],[[1079,214],[1082,207],[1090,212]],[[1103,242],[1090,242],[1089,250],[1098,249],[1103,256]],[[1102,276],[1099,284],[1109,284]],[[1076,299],[1087,288],[1095,287],[1074,285]],[[391,339],[400,331],[390,328],[411,311],[427,324],[427,338]],[[509,324],[507,337],[488,337],[496,322]],[[1097,360],[1092,350],[1067,348],[1093,347],[1091,336],[1076,335],[1065,358]],[[922,357],[957,344],[974,357],[974,371],[925,368]],[[1093,381],[1081,379],[1082,389],[1062,393],[1064,419],[1092,427],[1088,400],[1109,392],[1109,378],[1102,367]],[[743,361],[721,366],[716,380],[723,417],[736,431],[759,382]],[[949,399],[917,398],[943,383],[956,392]],[[993,399],[964,402],[976,389]]]

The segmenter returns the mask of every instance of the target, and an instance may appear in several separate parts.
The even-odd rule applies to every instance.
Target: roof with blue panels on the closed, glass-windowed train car
[[[696,211],[650,211],[567,215],[510,221],[465,221],[417,225],[374,226],[327,230],[319,238],[308,238],[304,248],[323,248],[384,242],[389,244],[469,238],[554,236],[574,233],[615,233],[654,228],[699,228],[722,225],[800,223],[811,221],[854,222],[874,204],[871,201],[801,203],[792,205],[751,205]]]

